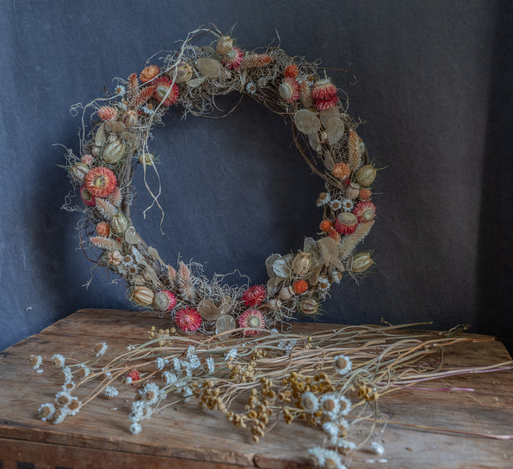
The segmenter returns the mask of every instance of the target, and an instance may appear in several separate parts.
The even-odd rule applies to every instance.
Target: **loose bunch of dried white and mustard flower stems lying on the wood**
[[[150,341],[128,346],[113,358],[105,354],[103,342],[96,344],[92,359],[80,364],[68,364],[60,354],[51,357],[64,384],[53,403],[41,405],[39,414],[43,421],[61,423],[94,398],[115,398],[120,387],[135,385],[127,421],[132,433],[142,431],[142,423],[157,412],[172,418],[169,411],[161,411],[179,402],[195,403],[219,411],[234,426],[249,431],[255,442],[277,421],[306,422],[325,437],[322,445],[309,449],[312,462],[344,467],[343,457],[368,449],[377,435],[378,402],[388,393],[405,387],[425,389],[415,385],[436,378],[513,368],[507,361],[442,371],[444,347],[487,339],[400,331],[409,326],[414,325],[346,326],[311,335],[274,330],[244,339],[234,337],[237,331],[205,338],[153,327]],[[33,357],[31,364],[37,370],[46,361]],[[444,390],[458,391],[438,391]],[[371,447],[383,451],[379,443]],[[333,462],[336,465],[330,465]]]

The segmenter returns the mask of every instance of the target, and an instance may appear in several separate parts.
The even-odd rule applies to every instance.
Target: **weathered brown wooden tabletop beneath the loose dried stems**
[[[53,401],[58,388],[49,369],[33,371],[28,364],[32,354],[81,359],[98,341],[123,351],[128,344],[146,341],[152,325],[159,329],[167,324],[137,311],[83,309],[1,353],[0,469],[309,467],[306,448],[322,442],[320,431],[301,424],[294,424],[293,431],[279,423],[255,444],[249,431],[192,404],[166,409],[145,422],[136,436],[128,432],[129,398],[95,399],[57,426],[38,420],[38,407]],[[323,327],[333,325],[297,324],[295,329]],[[493,340],[450,346],[445,354],[446,366],[484,366],[509,359],[504,346]],[[513,433],[513,371],[465,374],[427,381],[425,386],[475,392],[401,389],[383,397],[380,411],[394,422],[381,434],[386,453],[358,451],[351,468],[513,468],[513,440],[463,434]],[[379,463],[380,458],[387,462]]]

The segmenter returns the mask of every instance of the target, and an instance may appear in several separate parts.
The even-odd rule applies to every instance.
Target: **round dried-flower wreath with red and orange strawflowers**
[[[206,33],[214,34],[214,41],[192,44]],[[84,252],[88,238],[90,247],[101,249],[93,262],[123,278],[131,301],[169,313],[182,331],[220,334],[239,327],[253,336],[296,314],[319,314],[343,273],[357,277],[373,264],[369,252],[355,248],[374,224],[376,170],[357,133],[359,122],[347,113],[347,96],[326,71],[321,76],[319,61],[291,57],[279,47],[244,51],[217,29],[192,31],[160,64],[150,61],[126,80],[115,78],[114,91],[105,97],[72,108],[75,114],[83,110],[81,143],[80,155],[71,150],[66,155],[73,190],[64,208],[86,215],[79,224]],[[306,237],[297,252],[267,257],[266,285],[234,287],[225,284],[225,276],[207,278],[201,264],[181,259],[166,264],[130,217],[133,174],[140,166],[152,205],[160,207],[160,190],[154,193],[146,182],[148,171],[158,175],[148,148],[152,127],[176,107],[182,118],[208,115],[217,110],[217,96],[232,92],[290,121],[296,148],[326,187],[316,200],[323,210],[319,232]],[[77,194],[82,202],[73,205]]]

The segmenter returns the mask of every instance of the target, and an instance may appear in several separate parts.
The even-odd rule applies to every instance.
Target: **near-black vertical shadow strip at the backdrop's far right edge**
[[[498,13],[489,90],[493,113],[488,115],[482,173],[480,318],[472,329],[497,336],[513,354],[513,4],[504,2]]]

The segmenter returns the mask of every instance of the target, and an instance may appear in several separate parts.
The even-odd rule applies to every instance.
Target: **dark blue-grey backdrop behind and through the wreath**
[[[209,22],[237,24],[246,48],[278,31],[287,53],[346,70],[329,74],[366,120],[361,135],[384,168],[365,242],[377,264],[358,286],[343,279],[324,319],[470,322],[511,339],[511,2],[2,0],[0,349],[79,308],[130,307],[99,270],[82,287],[91,266],[76,249],[79,215],[59,210],[69,185],[52,145],[78,149],[73,103]],[[267,255],[316,232],[321,181],[288,125],[256,103],[223,120],[172,113],[153,149],[166,236],[157,210],[142,221],[140,182],[135,221],[168,262],[180,253],[264,282]]]

